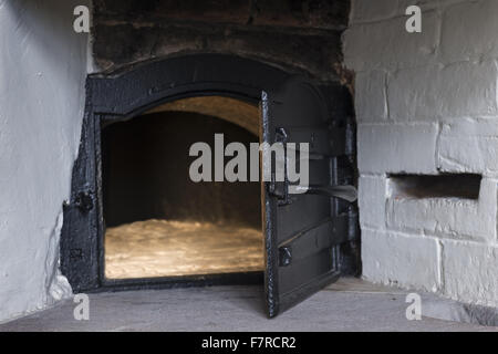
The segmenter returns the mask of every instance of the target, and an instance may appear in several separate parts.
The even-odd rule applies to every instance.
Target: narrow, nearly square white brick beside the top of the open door
[[[386,73],[359,73],[354,81],[357,122],[382,122],[387,117]]]

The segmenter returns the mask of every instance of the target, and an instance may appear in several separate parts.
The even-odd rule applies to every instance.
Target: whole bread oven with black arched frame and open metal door
[[[225,54],[91,75],[61,239],[73,289],[264,281],[274,315],[335,280],[341,267],[354,268],[341,256],[357,235],[354,188],[345,187],[354,169],[343,93]],[[297,169],[304,162],[309,169],[307,185],[288,180],[289,153],[283,180],[273,170],[269,179],[251,170],[245,180],[193,180],[190,147],[203,142],[216,155],[218,137],[248,150],[305,143],[305,155],[293,148]],[[216,159],[214,169],[229,158]]]

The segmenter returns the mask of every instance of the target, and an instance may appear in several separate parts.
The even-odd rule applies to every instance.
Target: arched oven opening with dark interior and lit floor
[[[189,97],[127,121],[104,121],[104,274],[108,280],[262,272],[258,181],[215,181],[224,148],[259,142],[257,105]],[[195,143],[211,150],[212,181],[193,181]],[[224,166],[234,157],[221,157]],[[249,170],[249,157],[247,158]]]

